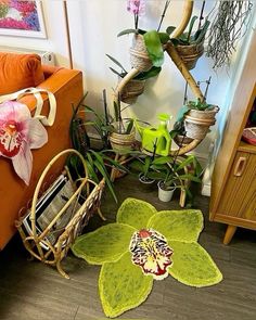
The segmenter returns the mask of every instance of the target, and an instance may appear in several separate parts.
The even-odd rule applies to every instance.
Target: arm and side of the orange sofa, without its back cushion
[[[33,172],[28,187],[14,172],[12,162],[0,157],[0,251],[15,233],[18,213],[21,208],[29,206],[36,183],[46,165],[60,151],[71,146],[68,127],[73,114],[72,104],[77,105],[84,95],[81,72],[52,66],[42,66],[42,72],[44,80],[37,87],[54,93],[56,117],[52,127],[46,127],[48,143],[41,149],[33,150]],[[0,81],[1,89],[3,85]],[[49,107],[47,95],[43,100],[42,114],[47,115]],[[27,104],[33,113],[36,103],[34,97],[24,97],[21,102]],[[63,163],[53,168],[53,171],[60,171]]]

